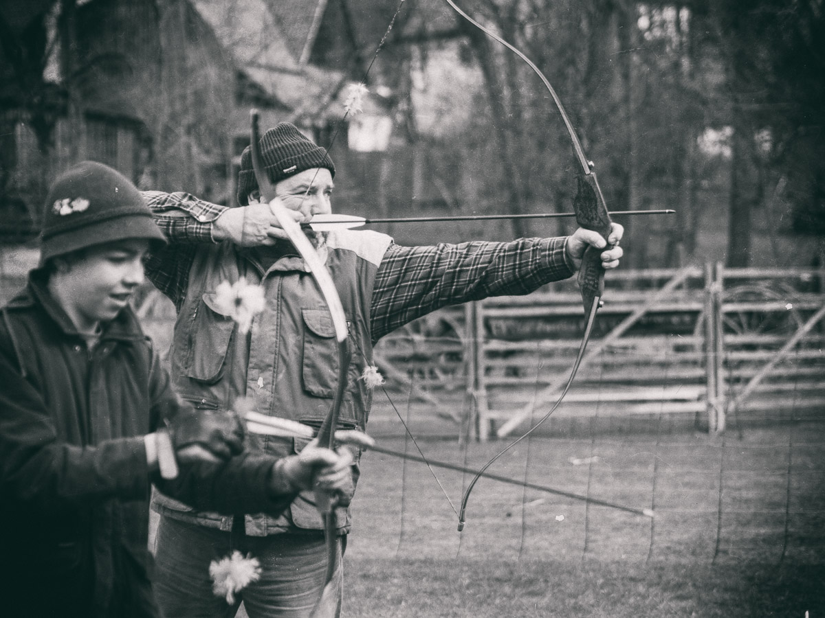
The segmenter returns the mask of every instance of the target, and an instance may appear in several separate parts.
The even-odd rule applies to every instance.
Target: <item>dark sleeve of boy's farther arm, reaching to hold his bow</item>
[[[188,404],[172,391],[169,373],[154,352],[149,381],[153,401],[150,418],[156,429]],[[174,480],[163,480],[159,475],[153,475],[153,480],[164,494],[198,510],[277,516],[298,495],[282,473],[282,466],[276,457],[243,452],[225,463],[180,466]]]

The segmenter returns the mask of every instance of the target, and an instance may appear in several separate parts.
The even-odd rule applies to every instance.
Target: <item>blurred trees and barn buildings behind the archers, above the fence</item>
[[[822,2],[462,6],[549,77],[609,208],[676,209],[622,220],[626,267],[822,262]],[[341,213],[571,208],[577,162],[548,92],[439,0],[4,0],[0,41],[5,245],[31,240],[50,179],[83,159],[236,204],[252,107],[264,129],[289,120],[332,144]],[[359,82],[364,110],[342,121]],[[379,229],[430,243],[572,226]]]

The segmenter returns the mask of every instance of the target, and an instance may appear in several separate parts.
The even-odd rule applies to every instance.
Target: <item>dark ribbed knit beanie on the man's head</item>
[[[263,134],[261,158],[266,176],[273,184],[314,167],[326,167],[335,176],[335,166],[326,148],[316,146],[295,128],[295,124],[282,122],[275,129]],[[249,147],[241,155],[241,171],[238,172],[238,203],[247,205],[247,195],[258,188],[255,171],[252,170],[252,152]]]

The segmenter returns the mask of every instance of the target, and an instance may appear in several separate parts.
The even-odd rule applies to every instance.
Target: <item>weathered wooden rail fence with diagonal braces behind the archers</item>
[[[646,269],[610,273],[606,306],[559,417],[694,414],[714,432],[730,414],[825,405],[825,272]],[[385,337],[377,363],[397,390],[507,436],[553,405],[580,343],[569,283],[450,307]]]

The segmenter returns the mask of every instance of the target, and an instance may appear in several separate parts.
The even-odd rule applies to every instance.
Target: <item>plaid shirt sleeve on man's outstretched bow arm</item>
[[[446,305],[529,294],[568,279],[567,237],[437,246],[390,245],[375,276],[373,343]]]

